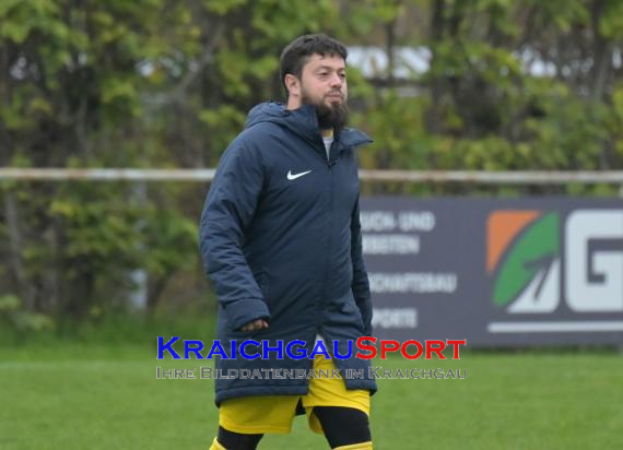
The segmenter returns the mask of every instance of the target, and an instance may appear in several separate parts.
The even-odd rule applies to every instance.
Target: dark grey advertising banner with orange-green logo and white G
[[[380,339],[623,344],[623,201],[361,201]]]

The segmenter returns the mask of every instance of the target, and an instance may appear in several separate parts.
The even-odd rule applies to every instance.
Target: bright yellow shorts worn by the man
[[[318,355],[314,359],[314,369],[334,369],[332,359]],[[317,372],[318,374],[318,372]],[[344,406],[363,411],[369,416],[369,391],[363,389],[346,390],[341,378],[312,378],[306,395],[258,395],[225,400],[221,403],[219,425],[230,431],[240,434],[287,434],[292,430],[292,421],[296,415],[296,405],[301,399],[309,428],[322,434],[322,427],[314,406]]]

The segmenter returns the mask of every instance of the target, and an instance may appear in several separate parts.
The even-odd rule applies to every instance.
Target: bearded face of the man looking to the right
[[[301,104],[316,106],[321,129],[341,129],[349,119],[346,64],[337,56],[313,55],[301,74]]]

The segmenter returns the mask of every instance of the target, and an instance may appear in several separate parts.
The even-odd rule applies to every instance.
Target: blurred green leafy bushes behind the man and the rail
[[[350,49],[362,168],[609,170],[623,163],[623,1],[3,0],[0,164],[213,168],[283,99],[281,49]],[[1,180],[0,318],[80,335],[209,317],[209,183]],[[364,194],[618,194],[612,185],[364,182]],[[130,327],[136,330],[136,327]]]

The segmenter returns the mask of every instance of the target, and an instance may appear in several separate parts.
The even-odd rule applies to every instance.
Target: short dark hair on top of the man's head
[[[349,52],[342,43],[326,34],[306,34],[298,36],[283,49],[279,62],[279,75],[281,76],[281,84],[285,88],[286,96],[289,92],[285,85],[285,75],[291,73],[301,79],[303,66],[305,66],[313,55],[324,57],[339,56],[345,61]]]

